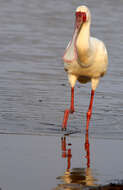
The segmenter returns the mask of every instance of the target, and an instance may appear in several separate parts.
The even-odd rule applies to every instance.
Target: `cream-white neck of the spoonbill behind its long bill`
[[[90,23],[84,23],[76,41],[77,55],[80,62],[84,62],[90,54]]]

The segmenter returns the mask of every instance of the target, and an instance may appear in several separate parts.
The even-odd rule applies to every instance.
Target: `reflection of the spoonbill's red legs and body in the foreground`
[[[57,177],[57,179],[61,180],[61,184],[59,184],[54,190],[80,190],[84,187],[95,186],[95,179],[92,176],[92,171],[90,168],[90,147],[89,147],[89,138],[88,132],[85,135],[85,152],[86,152],[86,168],[72,168],[72,153],[71,153],[71,143],[67,143],[67,137],[63,136],[61,138],[61,150],[62,150],[62,158],[67,160],[66,171],[63,176]]]

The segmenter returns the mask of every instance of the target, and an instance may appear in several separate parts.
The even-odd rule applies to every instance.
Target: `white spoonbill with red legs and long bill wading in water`
[[[69,113],[74,112],[74,87],[80,83],[91,82],[91,98],[87,112],[86,130],[92,114],[95,90],[108,66],[108,54],[104,43],[90,36],[91,14],[86,6],[80,6],[75,12],[75,29],[63,56],[64,69],[71,86],[71,106],[64,112],[62,129],[66,130]]]

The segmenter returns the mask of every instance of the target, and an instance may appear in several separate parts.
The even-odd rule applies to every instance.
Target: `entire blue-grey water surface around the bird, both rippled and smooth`
[[[76,112],[68,122],[76,134],[66,137],[66,151],[72,154],[69,171],[92,172],[97,184],[123,179],[123,1],[1,0],[0,133],[32,134],[0,135],[2,189],[50,190],[65,183],[69,156],[62,156],[61,124],[70,87],[62,56],[81,4],[91,10],[92,36],[107,46],[109,67],[94,99],[89,170],[85,137],[78,134],[85,131],[91,85],[76,84]]]

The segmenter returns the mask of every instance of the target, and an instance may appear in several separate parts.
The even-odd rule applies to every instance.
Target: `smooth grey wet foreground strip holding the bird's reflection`
[[[0,135],[0,187],[6,190],[97,188],[123,179],[122,161],[121,140]]]

